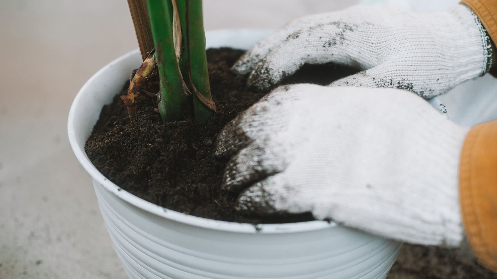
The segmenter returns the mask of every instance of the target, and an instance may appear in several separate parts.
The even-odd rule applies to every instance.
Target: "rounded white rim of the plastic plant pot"
[[[242,29],[244,32],[261,32],[264,29]],[[211,34],[218,35],[220,32],[239,32],[240,29],[220,29],[206,32],[206,36]],[[217,33],[217,34],[216,34]],[[203,217],[197,217],[193,215],[188,215],[185,213],[181,213],[178,211],[174,211],[171,209],[166,209],[164,207],[155,205],[153,203],[147,202],[137,196],[123,190],[112,181],[107,179],[103,174],[101,174],[95,166],[91,163],[89,158],[86,156],[86,152],[82,147],[79,146],[78,141],[76,139],[76,128],[74,126],[74,120],[78,116],[76,115],[76,108],[83,98],[84,92],[88,89],[89,84],[100,74],[109,70],[114,65],[119,64],[123,60],[130,59],[130,57],[138,55],[139,50],[135,49],[130,51],[119,58],[113,60],[109,64],[105,65],[103,68],[98,70],[95,74],[93,74],[80,89],[76,98],[71,105],[71,109],[69,111],[69,119],[68,119],[68,136],[69,142],[71,143],[71,147],[73,152],[75,153],[78,161],[83,165],[83,168],[91,175],[91,177],[96,180],[98,183],[102,184],[105,189],[119,197],[125,202],[132,204],[133,206],[148,211],[150,213],[156,214],[158,216],[164,217],[166,219],[174,220],[180,223],[203,227],[207,229],[213,230],[221,230],[221,231],[229,231],[229,232],[239,232],[239,233],[291,233],[291,232],[303,232],[303,231],[312,231],[325,229],[330,227],[337,226],[334,222],[314,220],[314,221],[306,221],[306,222],[297,222],[297,223],[283,223],[283,224],[250,224],[250,223],[238,223],[238,222],[229,222],[229,221],[220,221],[214,219],[208,219]],[[79,116],[81,117],[81,116]]]

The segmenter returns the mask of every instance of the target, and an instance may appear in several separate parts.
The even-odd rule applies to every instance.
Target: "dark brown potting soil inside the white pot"
[[[244,53],[229,48],[207,50],[209,78],[217,113],[205,124],[191,120],[163,123],[154,94],[137,98],[135,122],[130,124],[120,95],[105,105],[86,141],[85,150],[95,167],[122,189],[166,209],[217,220],[246,223],[287,223],[312,220],[310,213],[272,217],[238,212],[238,193],[221,189],[227,160],[213,156],[216,135],[238,113],[267,92],[247,87],[248,76],[230,68]],[[139,65],[137,65],[139,66]],[[357,72],[327,64],[305,65],[286,77],[284,84],[329,84]],[[156,81],[145,89],[158,92]]]

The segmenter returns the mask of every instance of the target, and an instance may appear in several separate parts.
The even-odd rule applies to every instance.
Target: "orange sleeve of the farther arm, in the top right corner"
[[[494,43],[494,51],[496,51],[497,42],[497,1],[496,0],[462,0],[459,2],[468,6],[478,16],[485,29],[490,35]],[[494,57],[495,54],[494,54]],[[497,62],[490,69],[490,74],[497,77]]]

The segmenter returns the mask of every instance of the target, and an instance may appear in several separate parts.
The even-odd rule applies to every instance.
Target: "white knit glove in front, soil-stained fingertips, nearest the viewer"
[[[275,89],[220,133],[224,187],[256,214],[312,212],[377,235],[457,245],[467,129],[399,89]]]

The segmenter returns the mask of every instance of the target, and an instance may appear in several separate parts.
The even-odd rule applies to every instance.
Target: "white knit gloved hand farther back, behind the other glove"
[[[492,45],[463,5],[430,14],[353,6],[288,23],[253,46],[233,69],[251,72],[249,85],[268,89],[303,64],[328,62],[363,70],[334,86],[393,87],[431,98],[486,73]]]

